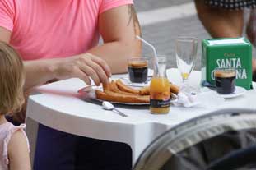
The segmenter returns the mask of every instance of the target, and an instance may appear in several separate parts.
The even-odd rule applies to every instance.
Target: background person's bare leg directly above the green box
[[[244,26],[244,11],[229,11],[207,6],[195,0],[198,18],[213,38],[240,37]]]

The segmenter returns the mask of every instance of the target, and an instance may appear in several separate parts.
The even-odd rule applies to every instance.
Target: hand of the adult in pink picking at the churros
[[[54,59],[52,66],[55,78],[63,80],[77,77],[84,80],[87,85],[91,85],[90,77],[95,85],[100,85],[100,83],[109,83],[111,76],[108,64],[91,53]]]

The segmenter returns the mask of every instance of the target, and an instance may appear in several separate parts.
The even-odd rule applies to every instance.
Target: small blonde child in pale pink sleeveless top
[[[0,42],[0,169],[28,170],[30,156],[25,125],[14,126],[5,115],[21,109],[24,71],[21,58],[8,44]]]

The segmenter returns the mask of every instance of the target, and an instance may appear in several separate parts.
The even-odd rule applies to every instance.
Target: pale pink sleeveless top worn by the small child
[[[21,130],[24,132],[24,135],[26,136],[25,131],[23,130],[26,127],[25,124],[22,124],[21,126],[14,126],[10,122],[6,122],[0,125],[0,169],[1,170],[7,170],[9,159],[8,159],[8,143],[11,140],[12,134],[17,131]],[[26,141],[29,147],[29,142],[26,137]]]

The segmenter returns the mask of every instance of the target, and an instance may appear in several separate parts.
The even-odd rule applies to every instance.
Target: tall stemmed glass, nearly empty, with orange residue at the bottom
[[[193,71],[198,53],[198,39],[193,37],[178,37],[175,40],[177,67],[183,79],[181,90],[191,92],[193,88],[189,86],[189,75]]]

